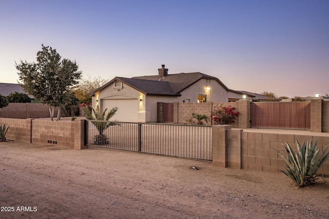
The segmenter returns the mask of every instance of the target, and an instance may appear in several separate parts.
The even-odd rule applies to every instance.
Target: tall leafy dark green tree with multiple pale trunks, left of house
[[[36,63],[21,60],[15,66],[25,92],[49,106],[51,120],[54,107],[58,107],[56,121],[60,120],[62,108],[70,104],[71,91],[81,78],[76,61],[62,58],[56,49],[42,44],[42,50],[36,53]]]

